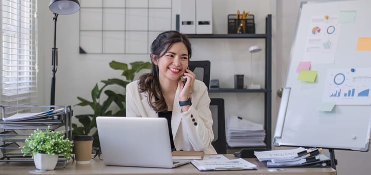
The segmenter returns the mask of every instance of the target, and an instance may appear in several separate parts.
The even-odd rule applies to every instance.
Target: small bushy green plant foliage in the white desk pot
[[[36,153],[46,154],[63,154],[66,159],[72,155],[72,141],[64,138],[64,132],[56,132],[50,130],[36,129],[26,139],[25,144],[22,146],[22,152],[25,155]]]

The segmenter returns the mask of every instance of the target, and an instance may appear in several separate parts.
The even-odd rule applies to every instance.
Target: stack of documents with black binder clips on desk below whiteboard
[[[265,161],[267,167],[328,167],[331,160],[321,153],[322,148],[282,149],[255,151],[259,161]]]

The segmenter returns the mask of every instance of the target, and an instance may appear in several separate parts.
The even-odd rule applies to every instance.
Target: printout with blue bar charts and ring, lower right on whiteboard
[[[343,105],[371,104],[371,70],[369,68],[329,69],[323,101]]]

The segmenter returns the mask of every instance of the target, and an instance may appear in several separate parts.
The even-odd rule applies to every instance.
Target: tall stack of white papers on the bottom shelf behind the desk
[[[226,138],[230,147],[265,146],[266,132],[262,124],[251,122],[240,116],[227,117]]]

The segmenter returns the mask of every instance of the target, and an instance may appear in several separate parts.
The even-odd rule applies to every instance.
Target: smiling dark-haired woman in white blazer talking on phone
[[[215,154],[207,87],[187,69],[192,53],[188,38],[178,31],[162,32],[151,52],[151,73],[127,85],[127,116],[165,117],[172,150]]]

